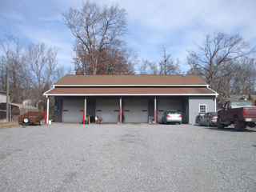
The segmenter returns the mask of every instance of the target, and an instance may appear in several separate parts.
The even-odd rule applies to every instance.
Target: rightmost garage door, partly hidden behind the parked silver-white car
[[[158,122],[166,110],[178,110],[182,114],[182,99],[158,99]]]

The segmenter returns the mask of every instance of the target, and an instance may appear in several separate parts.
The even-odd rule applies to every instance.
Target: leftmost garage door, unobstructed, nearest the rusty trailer
[[[62,100],[62,122],[82,122],[84,99]]]

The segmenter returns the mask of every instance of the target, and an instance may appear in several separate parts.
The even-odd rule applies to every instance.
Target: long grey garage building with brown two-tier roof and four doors
[[[82,122],[83,114],[102,122],[161,122],[178,110],[182,123],[216,111],[218,94],[198,75],[66,75],[44,95],[54,96],[55,122]],[[49,111],[49,110],[47,110]]]

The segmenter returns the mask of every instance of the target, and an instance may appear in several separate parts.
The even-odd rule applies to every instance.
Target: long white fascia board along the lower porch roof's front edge
[[[216,94],[44,94],[47,96],[216,96]]]

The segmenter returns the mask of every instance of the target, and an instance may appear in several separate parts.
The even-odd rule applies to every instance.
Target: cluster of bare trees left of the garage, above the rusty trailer
[[[6,91],[9,86],[13,103],[26,101],[36,106],[41,101],[39,105],[46,106],[46,97],[42,94],[66,73],[64,67],[58,65],[58,47],[26,42],[6,34],[0,39],[0,49],[0,90]]]

